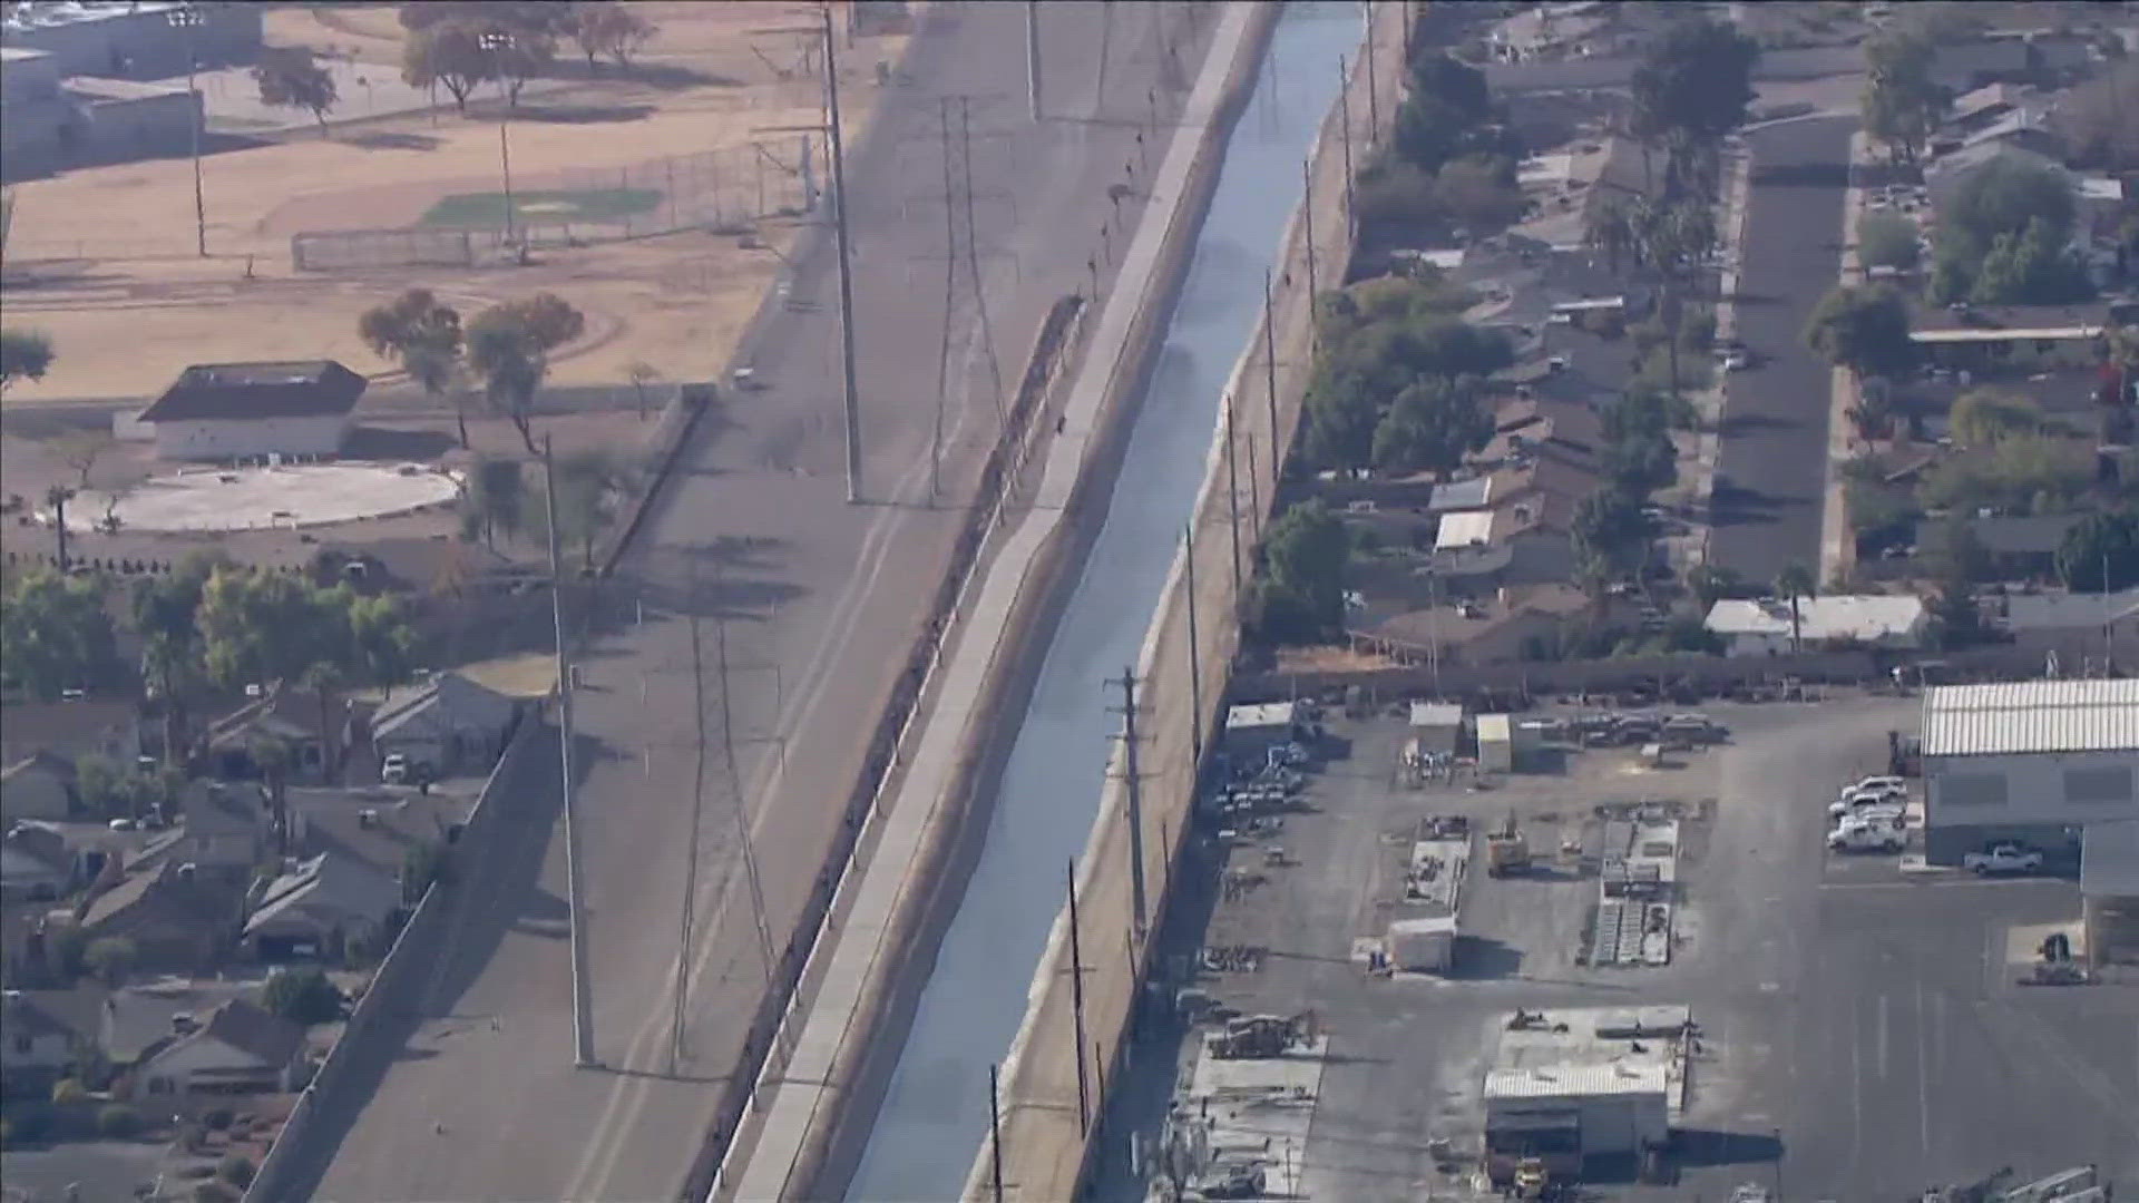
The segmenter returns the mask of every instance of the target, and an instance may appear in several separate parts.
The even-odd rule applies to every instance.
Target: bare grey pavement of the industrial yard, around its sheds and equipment
[[[1301,809],[1281,835],[1232,850],[1245,873],[1176,942],[1260,948],[1251,972],[1198,974],[1194,987],[1245,1015],[1311,1008],[1328,1034],[1303,1192],[1465,1197],[1504,1017],[1645,1004],[1686,1004],[1701,1030],[1671,1177],[1591,1167],[1585,1188],[1600,1199],[1724,1199],[1745,1182],[1799,1199],[1899,1199],[2000,1167],[2034,1177],[2090,1160],[2139,1182],[2139,989],[2017,985],[2013,961],[2032,957],[2043,925],[2077,914],[2075,886],[1904,871],[1895,854],[1825,848],[1827,803],[1887,771],[1887,732],[1912,734],[1917,704],[1709,704],[1730,741],[1660,768],[1600,747],[1559,773],[1478,783],[1459,771],[1416,790],[1399,783],[1401,717],[1333,711],[1333,756],[1309,768]],[[1598,811],[1630,803],[1677,818],[1664,965],[1589,963]],[[1465,816],[1476,837],[1510,813],[1538,869],[1493,878],[1474,852],[1452,970],[1369,974],[1363,940],[1401,912],[1420,818]],[[1271,839],[1281,865],[1264,865]],[[1149,1081],[1117,1124],[1153,1126],[1183,1047],[1138,1055]],[[1459,1173],[1435,1169],[1435,1139]]]

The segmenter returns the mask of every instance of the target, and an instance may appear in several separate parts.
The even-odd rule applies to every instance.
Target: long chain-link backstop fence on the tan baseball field
[[[684,229],[736,229],[768,216],[800,216],[824,191],[821,139],[729,146],[578,169],[515,182],[513,223],[503,199],[466,227],[312,229],[291,238],[299,272],[355,268],[466,268],[513,248],[586,246]],[[503,188],[501,188],[503,191]]]

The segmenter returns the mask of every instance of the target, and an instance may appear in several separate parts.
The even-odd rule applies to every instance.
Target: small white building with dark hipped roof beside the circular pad
[[[364,385],[334,360],[195,364],[139,420],[167,460],[332,456]]]

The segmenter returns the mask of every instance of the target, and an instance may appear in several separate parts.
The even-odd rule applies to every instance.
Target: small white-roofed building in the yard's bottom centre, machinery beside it
[[[1484,1075],[1487,1175],[1506,1186],[1523,1158],[1576,1177],[1660,1156],[1686,1107],[1692,1032],[1686,1006],[1517,1010]]]

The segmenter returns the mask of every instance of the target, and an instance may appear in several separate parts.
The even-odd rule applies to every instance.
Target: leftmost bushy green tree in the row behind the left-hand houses
[[[118,636],[96,578],[36,569],[0,593],[0,681],[41,700],[122,679]]]

